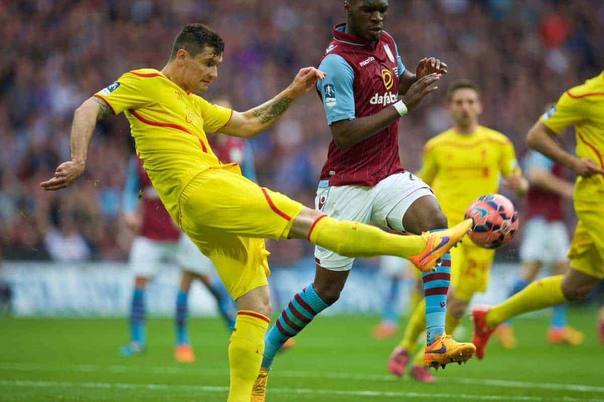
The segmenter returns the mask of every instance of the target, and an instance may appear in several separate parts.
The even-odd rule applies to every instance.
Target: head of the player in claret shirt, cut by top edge
[[[369,42],[377,42],[388,17],[388,0],[350,0],[344,11],[349,16],[353,32]]]

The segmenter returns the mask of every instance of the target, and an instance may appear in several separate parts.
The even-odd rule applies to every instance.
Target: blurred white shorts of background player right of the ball
[[[531,218],[522,232],[522,262],[555,263],[567,260],[569,240],[564,222],[548,222],[541,216]]]

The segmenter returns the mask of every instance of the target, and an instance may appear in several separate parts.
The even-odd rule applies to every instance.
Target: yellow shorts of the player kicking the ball
[[[304,206],[258,186],[239,167],[206,169],[182,190],[179,225],[235,300],[268,284],[265,238],[286,239]]]

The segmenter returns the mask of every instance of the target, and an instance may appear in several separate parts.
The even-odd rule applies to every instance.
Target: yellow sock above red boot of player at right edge
[[[568,303],[567,298],[562,294],[562,277],[556,275],[534,281],[503,303],[492,307],[485,317],[489,328],[495,328],[507,319],[522,313]]]

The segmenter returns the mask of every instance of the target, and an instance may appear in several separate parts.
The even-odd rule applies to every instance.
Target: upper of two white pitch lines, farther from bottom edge
[[[209,368],[191,368],[184,369],[169,366],[100,366],[100,365],[39,365],[34,363],[0,363],[0,370],[18,370],[18,371],[72,371],[72,372],[144,372],[148,374],[185,374],[198,373],[205,375],[228,375],[228,368],[209,369]],[[278,370],[271,372],[272,377],[288,378],[332,378],[338,380],[373,380],[384,382],[408,381],[408,378],[396,378],[392,375],[382,374],[359,374],[351,372],[310,372],[294,370]],[[602,386],[564,384],[564,383],[535,383],[513,380],[496,380],[487,378],[443,378],[444,382],[454,382],[466,385],[486,385],[501,388],[525,388],[525,389],[546,389],[559,391],[579,391],[579,392],[604,392]]]

